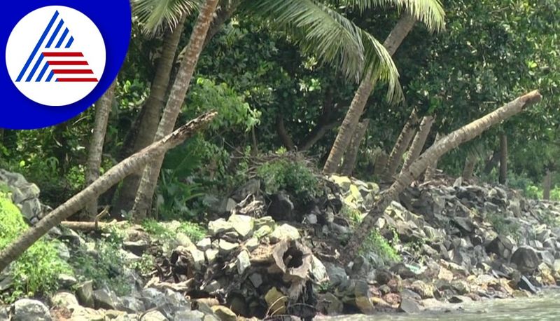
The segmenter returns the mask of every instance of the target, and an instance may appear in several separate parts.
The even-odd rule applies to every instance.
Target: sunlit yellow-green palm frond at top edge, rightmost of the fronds
[[[439,32],[445,28],[445,12],[440,0],[337,0],[339,4],[359,8],[396,6],[404,8],[416,20],[423,22],[431,31]]]

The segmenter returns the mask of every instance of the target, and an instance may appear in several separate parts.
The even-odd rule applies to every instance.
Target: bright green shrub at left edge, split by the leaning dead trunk
[[[20,210],[6,194],[0,193],[0,249],[9,245],[27,229]],[[57,289],[57,279],[62,273],[72,275],[71,267],[59,257],[56,240],[41,238],[31,245],[9,270],[13,278],[10,294],[1,299],[10,303],[22,296],[50,294]]]

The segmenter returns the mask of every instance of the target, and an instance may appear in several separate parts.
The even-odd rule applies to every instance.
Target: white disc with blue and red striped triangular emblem
[[[96,88],[105,64],[105,43],[97,26],[66,6],[31,11],[6,43],[6,67],[15,87],[46,106],[83,100]]]

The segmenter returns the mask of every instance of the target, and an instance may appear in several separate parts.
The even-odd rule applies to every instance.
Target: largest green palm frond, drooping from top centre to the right
[[[343,15],[313,0],[251,0],[241,7],[286,32],[304,53],[339,67],[349,78],[367,72],[388,83],[388,99],[402,98],[398,71],[377,39]]]

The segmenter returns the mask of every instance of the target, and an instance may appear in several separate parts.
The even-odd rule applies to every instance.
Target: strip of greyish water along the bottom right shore
[[[333,321],[365,320],[560,320],[560,292],[547,291],[526,299],[496,299],[482,302],[461,303],[461,309],[445,312],[444,310],[425,312],[416,315],[379,314],[346,315],[329,317]]]

